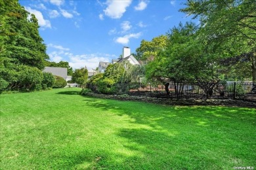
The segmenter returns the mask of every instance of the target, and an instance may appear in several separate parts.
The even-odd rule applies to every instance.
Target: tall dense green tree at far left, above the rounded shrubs
[[[3,1],[0,10],[3,32],[1,56],[12,58],[14,63],[43,69],[43,61],[49,59],[46,45],[39,36],[38,22],[33,14],[28,20],[29,13],[20,6],[18,1]]]

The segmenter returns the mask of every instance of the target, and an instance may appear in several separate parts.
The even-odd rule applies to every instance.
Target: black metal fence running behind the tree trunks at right
[[[129,95],[144,95],[150,97],[174,98],[174,99],[206,99],[206,92],[197,84],[169,84],[169,95],[165,92],[165,86],[157,85],[141,86],[140,84],[119,84],[123,92],[128,89]],[[126,91],[127,92],[127,91]],[[211,92],[208,92],[209,99],[239,99],[256,102],[256,84],[228,83],[217,84]]]

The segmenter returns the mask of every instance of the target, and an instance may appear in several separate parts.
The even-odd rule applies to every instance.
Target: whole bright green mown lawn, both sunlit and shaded
[[[256,168],[256,109],[0,95],[0,169]]]

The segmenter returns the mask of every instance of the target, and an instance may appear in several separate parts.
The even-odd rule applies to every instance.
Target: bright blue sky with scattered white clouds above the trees
[[[135,52],[191,17],[179,12],[183,0],[19,0],[39,20],[39,33],[51,61],[68,61],[74,69],[95,69],[99,61]]]

